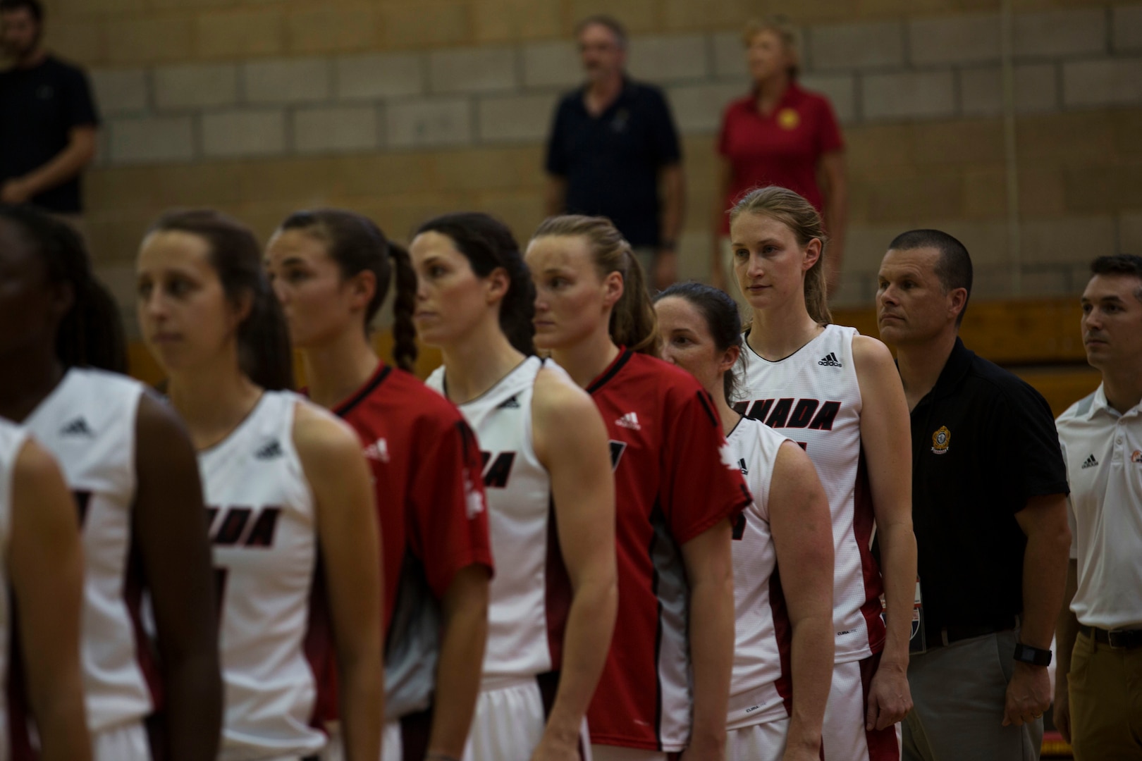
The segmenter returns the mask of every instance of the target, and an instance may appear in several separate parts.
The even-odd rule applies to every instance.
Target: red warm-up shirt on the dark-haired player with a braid
[[[385,570],[385,714],[396,719],[431,703],[440,600],[453,576],[469,565],[492,568],[480,447],[451,402],[384,363],[333,412],[361,437],[372,472]],[[328,674],[327,686],[332,681]]]

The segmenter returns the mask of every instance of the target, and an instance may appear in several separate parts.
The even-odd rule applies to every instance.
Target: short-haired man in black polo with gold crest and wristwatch
[[[971,289],[966,249],[939,230],[898,236],[880,264],[877,322],[911,408],[926,645],[908,666],[903,758],[1032,761],[1070,552],[1067,470],[1043,397],[959,340]]]

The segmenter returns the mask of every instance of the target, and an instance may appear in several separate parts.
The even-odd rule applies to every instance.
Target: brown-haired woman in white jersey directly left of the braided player
[[[136,262],[139,326],[199,452],[208,505],[226,688],[219,759],[322,750],[303,641],[328,615],[346,755],[373,761],[381,591],[369,475],[352,430],[284,390],[289,338],[260,259],[249,229],[192,210],[161,217]]]

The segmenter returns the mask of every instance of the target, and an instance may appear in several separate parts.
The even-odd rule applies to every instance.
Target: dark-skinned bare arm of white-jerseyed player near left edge
[[[198,461],[182,422],[148,394],[139,397],[136,442],[135,531],[159,634],[169,758],[212,761],[223,689]]]

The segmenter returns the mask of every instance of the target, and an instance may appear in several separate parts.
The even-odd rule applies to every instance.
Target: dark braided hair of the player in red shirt
[[[282,230],[301,230],[325,244],[337,262],[341,277],[371,272],[376,289],[364,311],[363,330],[368,333],[373,318],[385,303],[388,286],[396,274],[393,301],[393,361],[402,370],[412,370],[417,362],[417,332],[412,324],[416,307],[417,274],[409,253],[393,243],[371,219],[344,209],[295,211],[281,224]]]

